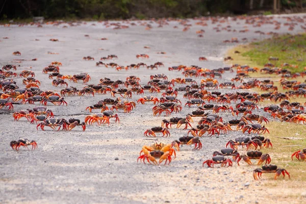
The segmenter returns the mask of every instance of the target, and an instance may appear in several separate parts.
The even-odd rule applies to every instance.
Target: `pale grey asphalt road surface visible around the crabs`
[[[42,28],[37,28],[36,25],[1,26],[0,65],[20,64],[17,73],[31,66],[31,70],[36,74],[35,78],[42,83],[41,90],[62,89],[53,87],[52,80],[41,72],[52,61],[63,63],[60,72],[65,75],[87,72],[91,76],[89,84],[98,84],[99,79],[105,77],[125,81],[129,75],[136,75],[141,79],[141,85],[145,85],[151,74],[164,73],[169,79],[183,77],[181,72],[168,71],[169,66],[198,65],[210,69],[227,66],[223,63],[223,57],[226,49],[235,44],[223,43],[223,40],[237,37],[240,41],[247,38],[250,42],[253,38],[270,37],[254,33],[257,30],[265,33],[289,32],[288,26],[283,25],[287,19],[276,16],[272,20],[281,22],[281,29],[275,31],[273,24],[254,28],[253,24],[246,24],[245,20],[232,19],[215,24],[208,20],[207,27],[195,25],[198,20],[190,20],[192,27],[187,32],[182,32],[184,27],[179,21],[170,21],[169,25],[164,25],[163,28],[158,28],[157,23],[151,23],[152,29],[149,31],[137,21],[137,25],[129,25],[129,29],[120,30],[106,28],[100,22],[87,22],[74,27],[68,24],[43,24]],[[222,28],[231,25],[232,30],[236,29],[237,32],[216,32],[213,28],[217,27],[217,24],[221,24]],[[68,25],[68,28],[63,28],[64,25]],[[174,25],[179,28],[174,29]],[[304,23],[298,22],[294,31],[290,32],[303,31],[299,25]],[[200,29],[205,30],[202,38],[195,34]],[[249,31],[239,32],[244,29]],[[85,37],[86,34],[89,37]],[[59,41],[52,42],[49,41],[50,38],[57,38]],[[149,46],[150,49],[145,49],[144,46]],[[16,50],[21,52],[21,56],[12,55]],[[56,52],[59,55],[48,55],[47,52]],[[165,66],[158,70],[140,68],[129,71],[95,66],[100,57],[111,54],[117,55],[118,59],[107,62],[119,65],[139,62],[153,64],[160,61]],[[148,54],[149,59],[137,59],[137,54]],[[95,61],[84,61],[84,56],[94,57]],[[200,56],[207,57],[208,61],[200,62]],[[33,58],[38,60],[12,62],[13,59]],[[226,72],[219,82],[229,81],[234,75]],[[16,81],[17,85],[24,87],[21,78],[18,77]],[[196,81],[199,83],[200,79]],[[70,82],[69,86],[81,89],[84,85]],[[226,91],[232,90],[222,90]],[[145,95],[161,97],[161,94]],[[58,118],[84,120],[89,114],[85,112],[86,107],[109,97],[110,94],[96,94],[94,97],[69,96],[65,97],[67,107],[49,105],[48,109]],[[139,95],[133,95],[132,100],[136,101],[138,98]],[[182,92],[178,98],[182,100],[183,105],[187,101]],[[182,112],[171,114],[170,117],[153,117],[153,106],[150,103],[137,105],[130,114],[119,111],[119,124],[112,120],[109,126],[88,125],[85,132],[81,131],[81,127],[75,127],[70,132],[57,132],[48,127],[45,127],[46,131],[37,131],[36,125],[30,124],[24,118],[16,122],[12,117],[13,112],[0,110],[0,203],[255,203],[271,196],[262,194],[262,182],[253,181],[252,166],[241,164],[238,167],[234,164],[232,168],[202,167],[202,162],[210,159],[213,151],[223,148],[228,140],[241,135],[241,132],[221,134],[219,137],[202,137],[203,148],[199,151],[184,145],[170,165],[137,163],[141,147],[154,142],[152,138],[143,136],[145,130],[160,126],[162,119],[184,117],[196,110],[196,107],[184,107]],[[28,104],[15,105],[14,111],[33,107],[34,105]],[[98,110],[93,112],[97,113]],[[261,114],[264,113],[261,111]],[[233,118],[229,113],[222,113],[221,116],[225,121]],[[196,125],[198,120],[199,118],[195,119],[192,124]],[[182,129],[172,128],[169,131],[171,136],[159,137],[159,141],[170,143],[187,134],[187,131]],[[10,141],[20,137],[35,140],[38,149],[32,151],[20,148],[18,152],[12,150]],[[273,199],[277,198],[271,197],[272,201]]]

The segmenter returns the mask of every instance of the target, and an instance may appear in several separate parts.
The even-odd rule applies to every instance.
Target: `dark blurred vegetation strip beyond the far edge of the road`
[[[94,20],[303,12],[306,0],[0,0],[0,19]]]

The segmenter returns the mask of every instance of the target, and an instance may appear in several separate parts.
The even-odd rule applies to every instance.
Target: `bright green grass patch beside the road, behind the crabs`
[[[249,58],[251,62],[259,66],[268,63],[269,57],[272,56],[279,59],[270,61],[275,66],[281,67],[283,63],[298,65],[298,68],[286,67],[286,69],[290,69],[293,73],[301,72],[306,67],[306,34],[288,34],[253,42],[240,52],[242,57]]]

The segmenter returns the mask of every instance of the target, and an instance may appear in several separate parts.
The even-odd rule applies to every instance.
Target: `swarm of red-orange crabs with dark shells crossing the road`
[[[116,25],[114,29],[124,28],[122,26]],[[146,29],[151,29],[150,24],[146,25]],[[183,31],[188,29],[189,25],[185,25]],[[227,29],[230,30],[230,27]],[[197,34],[204,32],[200,30]],[[224,42],[238,42],[238,39],[233,38]],[[21,56],[21,53],[16,51],[13,55]],[[133,64],[125,65],[116,63],[118,56],[113,54],[107,57],[94,57],[83,57],[82,63],[91,64],[97,70],[113,69],[129,73],[129,76],[124,79],[104,76],[97,79],[98,83],[93,83],[91,73],[80,71],[67,74],[62,68],[64,63],[58,61],[45,64],[41,67],[40,73],[28,68],[17,69],[18,65],[15,64],[6,64],[0,70],[1,111],[10,112],[14,121],[24,120],[28,121],[28,124],[35,124],[36,130],[40,131],[45,131],[46,128],[52,131],[86,131],[90,126],[117,125],[123,114],[133,114],[139,109],[147,108],[158,124],[143,127],[141,137],[158,141],[144,144],[137,162],[153,165],[170,164],[176,156],[180,157],[180,151],[185,150],[183,145],[194,145],[193,149],[200,152],[203,146],[201,138],[227,136],[236,132],[237,137],[228,138],[227,143],[223,145],[224,148],[206,156],[207,160],[202,162],[202,166],[213,168],[220,164],[221,167],[232,167],[236,162],[237,166],[263,165],[252,170],[255,180],[259,179],[262,173],[275,173],[274,179],[281,174],[290,177],[286,169],[271,164],[273,155],[267,154],[266,148],[273,148],[273,141],[267,136],[270,131],[266,125],[271,119],[306,124],[306,103],[294,101],[294,98],[306,98],[306,80],[296,80],[303,79],[306,71],[291,73],[286,69],[290,66],[286,63],[282,68],[267,63],[262,69],[238,64],[215,69],[182,64],[167,68],[162,62],[149,64],[148,59],[151,58],[147,54],[137,54],[136,59],[133,58]],[[94,62],[95,59],[99,60]],[[198,59],[201,63],[207,61],[206,57]],[[226,57],[225,60],[232,58]],[[144,79],[138,76],[139,69],[154,71],[154,74],[148,74],[148,82],[144,83],[141,81]],[[170,78],[170,74],[176,72],[181,73],[180,77]],[[281,75],[282,79],[278,83],[283,90],[278,90],[279,87],[274,85],[274,81],[250,78],[249,73],[252,72]],[[224,81],[222,75],[225,73],[234,74],[234,77]],[[46,80],[42,83],[35,79],[37,74],[43,75]],[[17,80],[18,77],[22,78],[22,83]],[[42,84],[53,86],[57,91],[42,89]],[[251,90],[253,88],[261,92]],[[95,97],[97,95],[98,99]],[[64,118],[58,116],[59,112],[53,112],[54,106],[69,106],[67,98],[74,96],[93,101],[84,107],[85,116]],[[269,101],[271,105],[261,107],[260,103],[263,101]],[[27,108],[22,108],[23,105],[27,105]],[[228,115],[231,115],[231,119],[228,119]],[[33,127],[35,129],[34,125]],[[182,135],[175,136],[173,129],[180,129],[177,131]],[[160,137],[167,142],[160,142]],[[173,137],[175,139],[172,139]],[[21,146],[32,146],[34,150],[38,148],[37,142],[20,138],[11,141],[10,147],[19,151]],[[291,159],[306,161],[306,148],[296,150]]]

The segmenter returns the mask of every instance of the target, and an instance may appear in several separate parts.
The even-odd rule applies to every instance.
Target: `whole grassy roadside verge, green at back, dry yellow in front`
[[[286,49],[286,51],[282,51]],[[270,56],[279,58],[278,61],[271,61],[275,66],[280,66],[283,63],[298,65],[298,68],[288,68],[292,72],[301,72],[306,66],[306,62],[297,61],[297,59],[306,59],[306,34],[291,36],[279,36],[272,39],[267,39],[262,42],[250,43],[249,45],[239,45],[227,52],[227,56],[231,56],[234,60],[230,63],[249,65],[250,67],[263,68],[264,64],[268,63]],[[238,51],[239,53],[235,53]],[[265,78],[274,82],[274,86],[277,86],[279,92],[286,92],[279,84],[281,77],[276,74],[262,74],[249,73],[251,78]],[[303,83],[305,79],[299,77],[293,79]],[[247,79],[245,81],[248,81]],[[261,91],[258,88],[252,89],[254,92],[266,93],[267,91]],[[305,103],[305,98],[291,98],[291,102]],[[260,103],[262,106],[268,106],[275,104],[270,100],[265,100]],[[279,103],[276,103],[279,104]],[[273,180],[274,174],[264,174],[267,179],[265,186],[269,187],[272,191],[281,188],[291,191],[290,196],[299,197],[299,191],[293,190],[300,188],[301,184],[306,182],[306,162],[298,161],[297,159],[291,160],[291,155],[298,149],[306,148],[306,126],[305,124],[294,124],[289,122],[277,122],[273,121],[270,124],[265,125],[270,131],[270,134],[265,134],[272,144],[273,148],[263,148],[264,153],[270,154],[272,158],[272,164],[277,165],[280,168],[285,168],[290,172],[291,179],[286,177],[286,182],[282,178],[277,181]],[[299,138],[299,140],[284,139],[289,137]],[[283,195],[280,195],[284,197]],[[286,196],[288,196],[286,194]],[[285,196],[285,197],[286,197]]]

